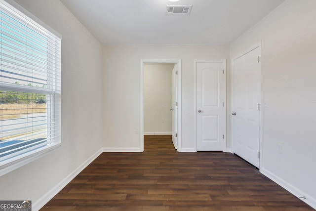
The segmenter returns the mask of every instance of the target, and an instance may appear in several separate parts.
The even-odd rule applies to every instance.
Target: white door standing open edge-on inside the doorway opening
[[[178,86],[178,79],[177,79],[177,64],[174,65],[172,70],[172,143],[174,148],[177,149],[177,116],[178,116],[178,105],[177,105],[177,86]]]

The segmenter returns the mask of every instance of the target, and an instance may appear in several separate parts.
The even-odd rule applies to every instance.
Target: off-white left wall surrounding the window
[[[36,206],[101,148],[102,48],[59,0],[16,1],[63,36],[62,145],[0,177],[1,200]]]

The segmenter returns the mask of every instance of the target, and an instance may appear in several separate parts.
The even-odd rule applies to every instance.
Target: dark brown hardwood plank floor
[[[178,153],[168,135],[144,145],[102,153],[41,211],[314,211],[231,153]]]

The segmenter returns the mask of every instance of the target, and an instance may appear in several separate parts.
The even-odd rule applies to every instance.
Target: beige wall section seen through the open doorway
[[[145,134],[172,134],[173,67],[174,64],[144,64]]]

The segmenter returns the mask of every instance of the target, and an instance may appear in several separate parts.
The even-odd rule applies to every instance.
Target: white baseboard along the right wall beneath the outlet
[[[316,199],[313,198],[312,196],[306,194],[304,191],[296,188],[295,186],[291,185],[290,183],[288,183],[284,179],[276,176],[274,173],[272,173],[271,171],[269,171],[265,168],[261,168],[260,172],[262,174],[264,174],[265,176],[269,177],[270,179],[272,179],[274,182],[276,182],[282,188],[284,188],[285,190],[287,190],[288,192],[290,192],[291,194],[293,194],[294,196],[296,196],[297,198],[299,198],[300,200],[302,200],[303,202],[305,202],[306,204],[308,204],[312,208],[316,209]],[[305,199],[300,198],[300,197],[305,197]]]

